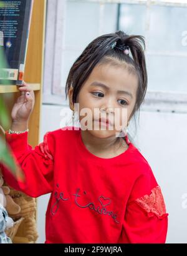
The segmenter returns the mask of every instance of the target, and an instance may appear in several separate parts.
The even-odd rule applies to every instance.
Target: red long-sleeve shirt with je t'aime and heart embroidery
[[[6,182],[31,197],[51,193],[46,243],[165,243],[168,213],[161,189],[128,136],[128,149],[107,159],[87,150],[80,128],[67,128],[49,131],[35,148],[27,131],[6,131],[26,177],[21,182],[2,166]]]

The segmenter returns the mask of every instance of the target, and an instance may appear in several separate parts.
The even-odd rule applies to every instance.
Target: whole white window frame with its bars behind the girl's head
[[[64,31],[65,31],[65,5],[67,2],[75,2],[77,0],[53,0],[47,1],[47,16],[46,16],[46,44],[44,58],[44,86],[43,86],[43,104],[62,105],[67,106],[65,100],[65,86],[61,87],[60,73],[63,64],[63,51],[64,51]],[[175,6],[186,7],[183,1],[153,1],[153,0],[82,0],[81,3],[100,3],[100,28],[98,33],[102,34],[103,28],[103,12],[104,5],[110,4],[143,4],[146,6]],[[148,8],[149,9],[149,8]],[[148,22],[148,21],[147,21]],[[118,28],[117,28],[118,29]],[[186,31],[187,33],[187,31]],[[62,53],[62,54],[59,54]],[[145,51],[147,55],[165,55],[165,56],[184,56],[187,53],[166,51],[153,52]],[[52,61],[51,61],[52,59]],[[176,100],[177,99],[177,100]],[[171,113],[180,112],[187,113],[187,93],[180,93],[174,91],[146,91],[146,96],[141,110],[146,111],[170,111]]]

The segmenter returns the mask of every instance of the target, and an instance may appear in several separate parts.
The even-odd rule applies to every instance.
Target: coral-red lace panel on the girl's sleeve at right
[[[144,195],[143,197],[137,198],[135,202],[148,213],[149,217],[154,214],[158,218],[168,216],[160,186],[153,188],[150,195]]]

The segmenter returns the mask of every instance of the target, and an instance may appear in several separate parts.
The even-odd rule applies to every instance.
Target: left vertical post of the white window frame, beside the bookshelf
[[[59,53],[64,51],[65,2],[47,1],[43,104],[67,105],[65,87],[63,91],[63,88],[58,86],[61,83],[63,64],[62,54]]]

